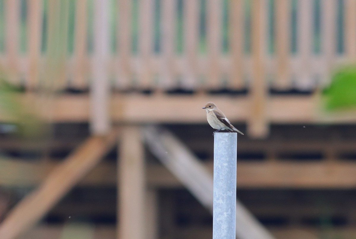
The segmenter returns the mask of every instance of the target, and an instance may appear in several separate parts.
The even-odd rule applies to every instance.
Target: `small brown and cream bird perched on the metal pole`
[[[213,102],[206,103],[203,109],[205,109],[206,111],[206,119],[208,119],[208,123],[210,124],[210,126],[214,129],[217,129],[217,131],[215,131],[213,135],[223,129],[226,129],[227,131],[236,131],[243,135],[241,131],[236,129],[230,123],[229,119],[226,118],[224,113],[221,112],[221,110],[219,110],[219,108]]]

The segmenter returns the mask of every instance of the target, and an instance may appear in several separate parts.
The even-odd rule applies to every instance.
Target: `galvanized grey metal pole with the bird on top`
[[[214,135],[213,239],[236,238],[237,133]]]

